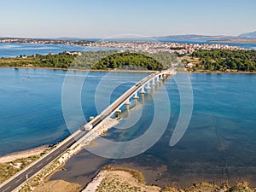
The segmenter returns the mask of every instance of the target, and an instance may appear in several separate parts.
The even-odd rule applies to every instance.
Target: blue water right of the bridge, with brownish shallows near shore
[[[167,117],[169,124],[158,143],[143,154],[123,160],[108,160],[83,150],[67,162],[66,172],[57,172],[51,179],[84,185],[102,166],[113,165],[141,170],[148,184],[162,187],[184,188],[193,183],[226,181],[231,184],[249,181],[256,186],[256,75],[189,74],[189,79],[194,109],[189,128],[177,145],[170,147],[169,141],[177,123],[180,96],[173,79],[168,79],[164,86],[172,113]],[[163,90],[155,90],[154,94],[162,98]],[[163,108],[166,103],[162,101]],[[145,95],[143,115],[137,124],[127,130],[112,129],[107,138],[127,141],[141,136],[154,117],[153,106],[151,96]],[[132,113],[137,111],[131,111],[119,128],[125,121],[137,119]],[[166,113],[160,116],[165,119]]]

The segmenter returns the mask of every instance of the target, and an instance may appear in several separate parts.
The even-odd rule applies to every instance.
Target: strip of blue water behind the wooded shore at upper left
[[[74,46],[68,44],[22,44],[22,43],[2,43],[0,44],[1,57],[16,57],[20,55],[47,55],[49,53],[57,54],[67,51],[88,51],[99,50],[101,48],[90,48]]]

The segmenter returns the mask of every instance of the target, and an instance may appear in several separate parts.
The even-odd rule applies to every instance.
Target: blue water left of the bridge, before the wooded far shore
[[[73,130],[68,130],[65,124],[61,89],[66,73],[61,70],[0,69],[0,155],[59,142],[83,123],[84,119],[76,117],[74,113],[76,124]],[[77,71],[68,74],[74,79],[87,77],[82,90],[85,119],[97,114],[94,92],[106,74]],[[113,92],[111,100],[145,75],[113,73],[111,77],[106,77],[119,81],[119,84],[124,83],[124,86]],[[111,84],[108,86],[104,89],[109,90]],[[104,107],[107,105],[104,104]]]

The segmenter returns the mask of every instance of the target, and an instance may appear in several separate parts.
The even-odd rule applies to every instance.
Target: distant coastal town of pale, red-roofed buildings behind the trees
[[[227,44],[207,43],[171,43],[149,41],[91,41],[91,40],[59,40],[59,39],[33,39],[33,38],[0,38],[0,43],[25,43],[25,44],[68,44],[83,47],[110,48],[119,49],[120,51],[130,49],[133,51],[145,51],[150,54],[157,52],[168,52],[171,54],[185,55],[192,54],[197,50],[241,50],[244,48],[238,46],[230,46]]]

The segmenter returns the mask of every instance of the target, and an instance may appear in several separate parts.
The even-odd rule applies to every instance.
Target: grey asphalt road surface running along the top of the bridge
[[[163,72],[162,72],[163,73]],[[132,96],[137,90],[141,89],[141,87],[148,82],[149,79],[155,78],[157,75],[160,75],[161,73],[152,73],[148,75],[146,78],[138,82],[137,84],[133,85],[130,90],[127,90],[124,95],[120,96],[115,102],[113,102],[108,108],[106,108],[100,115],[96,117],[90,124],[95,127],[99,123],[102,122],[103,119],[108,117],[109,114],[113,113],[113,111],[117,110],[119,106],[125,102],[130,96]],[[83,126],[81,126],[83,127]],[[25,171],[18,172],[16,176],[11,179],[8,183],[5,183],[1,188],[1,192],[9,192],[13,191],[17,187],[20,186],[20,184],[26,182],[26,180],[33,175],[35,175],[37,172],[42,170],[45,166],[49,165],[53,160],[55,160],[57,157],[59,157],[62,153],[64,153],[67,148],[70,148],[74,143],[79,141],[80,138],[84,137],[84,135],[88,131],[79,131],[79,133],[73,138],[71,137],[67,141],[63,141],[61,143],[61,146],[58,148],[53,149],[49,152],[49,154],[46,154],[41,160],[38,160],[37,163],[35,163],[33,166],[29,167]]]

